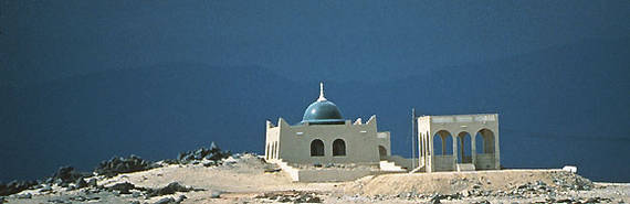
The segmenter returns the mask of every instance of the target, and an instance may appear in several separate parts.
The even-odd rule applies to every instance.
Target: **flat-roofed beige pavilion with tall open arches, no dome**
[[[417,121],[419,167],[426,172],[501,169],[498,115],[422,116]]]

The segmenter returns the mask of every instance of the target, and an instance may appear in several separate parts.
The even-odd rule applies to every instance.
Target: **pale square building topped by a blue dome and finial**
[[[376,116],[363,122],[345,120],[339,108],[324,97],[304,111],[303,120],[288,125],[266,121],[265,159],[288,164],[354,163],[378,165],[390,154],[389,132],[377,130]]]

